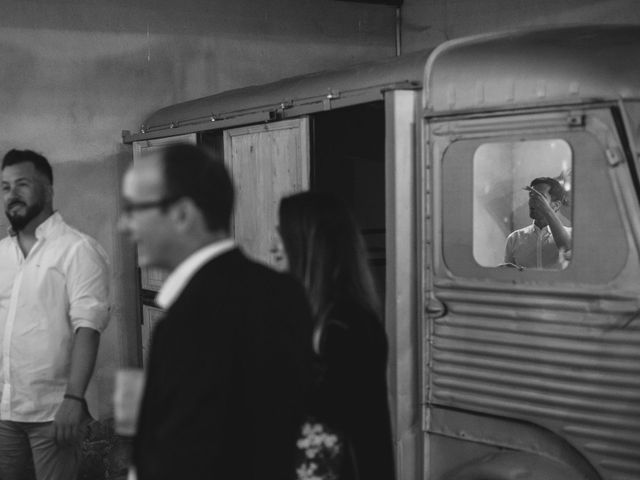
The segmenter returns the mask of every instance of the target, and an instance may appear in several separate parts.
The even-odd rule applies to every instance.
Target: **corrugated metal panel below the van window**
[[[621,297],[620,314],[603,316],[586,297],[567,296],[560,311],[535,296],[445,289],[439,299],[449,314],[434,321],[431,403],[534,422],[605,478],[640,478],[640,329],[610,328],[637,301]]]

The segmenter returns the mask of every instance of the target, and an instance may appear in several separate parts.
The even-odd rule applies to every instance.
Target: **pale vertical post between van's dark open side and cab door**
[[[394,90],[385,93],[386,135],[386,291],[385,323],[389,335],[389,389],[392,425],[396,438],[398,478],[421,479],[420,355],[416,338],[422,337],[415,322],[418,295],[416,244],[416,191],[421,146],[416,138],[420,123],[419,92]]]

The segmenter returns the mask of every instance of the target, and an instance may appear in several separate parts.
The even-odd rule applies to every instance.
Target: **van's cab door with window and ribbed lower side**
[[[640,478],[640,211],[614,114],[427,124],[428,478]],[[568,249],[534,224],[541,177],[562,187]]]

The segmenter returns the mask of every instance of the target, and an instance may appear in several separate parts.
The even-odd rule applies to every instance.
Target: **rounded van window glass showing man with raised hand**
[[[475,150],[473,257],[479,265],[569,265],[572,160],[563,139],[483,143]]]

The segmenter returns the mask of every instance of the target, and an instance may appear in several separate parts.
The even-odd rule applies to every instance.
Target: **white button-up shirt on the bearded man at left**
[[[25,258],[0,240],[0,420],[47,422],[62,402],[75,331],[109,320],[104,250],[54,213]]]

